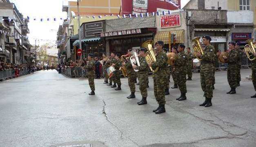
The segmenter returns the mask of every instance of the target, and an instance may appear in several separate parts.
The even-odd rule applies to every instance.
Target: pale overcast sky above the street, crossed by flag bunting
[[[62,21],[34,21],[33,18],[65,18],[66,12],[62,12],[62,1],[66,0],[10,0],[15,3],[16,7],[23,14],[24,18],[30,17],[29,40],[34,44],[35,39],[51,39],[56,40],[57,30]],[[183,7],[189,0],[181,0]],[[38,43],[38,42],[37,42]],[[40,44],[45,43],[40,40]]]

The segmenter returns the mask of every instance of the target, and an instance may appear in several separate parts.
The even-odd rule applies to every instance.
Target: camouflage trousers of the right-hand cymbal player
[[[237,87],[237,65],[228,65],[227,67],[227,81],[230,88]]]

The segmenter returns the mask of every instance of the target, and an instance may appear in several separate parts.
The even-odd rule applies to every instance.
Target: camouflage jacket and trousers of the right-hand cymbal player
[[[230,88],[237,87],[237,62],[238,62],[238,52],[234,49],[229,52],[229,58],[227,59],[227,81]]]

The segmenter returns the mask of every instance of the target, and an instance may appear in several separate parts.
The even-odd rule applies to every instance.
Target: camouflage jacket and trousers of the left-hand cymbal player
[[[177,84],[178,88],[180,89],[181,93],[187,93],[187,86],[186,86],[186,75],[187,75],[187,57],[185,52],[182,51],[178,53],[178,59],[175,60],[174,65],[176,67],[176,74],[177,74]]]

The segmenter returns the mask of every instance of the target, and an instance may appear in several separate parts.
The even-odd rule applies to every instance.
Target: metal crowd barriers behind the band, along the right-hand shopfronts
[[[216,60],[216,70],[225,70],[228,64],[221,63],[219,60]],[[242,57],[242,68],[249,68],[252,65],[252,62],[246,57]],[[103,69],[100,69],[100,77],[104,77]],[[192,71],[200,71],[200,66],[193,65]],[[82,67],[66,67],[61,69],[61,73],[69,77],[87,77],[86,70],[82,70]],[[152,72],[149,70],[149,74]]]

